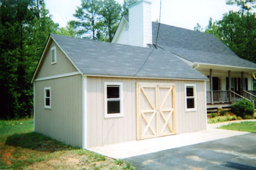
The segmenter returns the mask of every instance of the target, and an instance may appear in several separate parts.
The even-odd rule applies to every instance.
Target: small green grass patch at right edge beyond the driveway
[[[238,130],[238,131],[256,133],[256,122],[232,123],[229,125],[223,125],[220,127],[220,129]]]

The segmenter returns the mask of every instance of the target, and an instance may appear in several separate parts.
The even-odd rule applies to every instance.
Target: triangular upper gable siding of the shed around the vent
[[[50,49],[52,47],[56,47],[56,64],[51,64]],[[39,73],[37,74],[36,78],[49,77],[78,71],[54,41],[50,43],[48,49],[49,50],[46,52],[43,63],[41,64]]]

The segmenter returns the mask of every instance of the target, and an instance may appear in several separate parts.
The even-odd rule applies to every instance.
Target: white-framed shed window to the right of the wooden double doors
[[[185,111],[196,111],[196,84],[185,84]]]

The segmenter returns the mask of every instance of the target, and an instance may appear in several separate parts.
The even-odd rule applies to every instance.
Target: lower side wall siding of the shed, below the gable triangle
[[[34,83],[35,132],[82,147],[82,76]],[[44,87],[51,87],[51,109],[44,109]]]

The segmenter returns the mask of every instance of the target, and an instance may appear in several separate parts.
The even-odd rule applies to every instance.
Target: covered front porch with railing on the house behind
[[[207,107],[213,104],[231,104],[239,99],[256,103],[252,76],[255,68],[201,65],[197,70],[209,78],[206,83]]]

